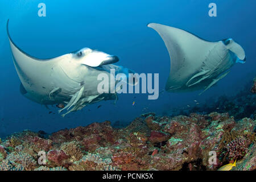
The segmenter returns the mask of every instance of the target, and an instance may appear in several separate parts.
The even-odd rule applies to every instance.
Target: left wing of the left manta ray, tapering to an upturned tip
[[[53,80],[60,82],[60,80],[56,80],[58,79],[56,75],[63,74],[63,71],[56,67],[53,70],[53,67],[58,61],[67,59],[69,55],[53,57],[51,59],[38,59],[30,56],[16,46],[11,39],[9,20],[7,21],[6,29],[14,66],[22,82],[22,86],[20,86],[20,88],[22,88],[20,89],[20,91],[22,91],[21,93],[28,99],[38,102],[39,104],[55,104],[54,99],[51,97],[51,94],[56,91],[54,90],[56,86],[54,86]]]

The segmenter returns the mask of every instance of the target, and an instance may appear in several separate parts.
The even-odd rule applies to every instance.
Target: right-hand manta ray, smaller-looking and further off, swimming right
[[[209,42],[163,24],[150,23],[148,27],[158,32],[170,55],[168,92],[204,92],[225,77],[235,63],[245,63],[245,51],[232,39]]]

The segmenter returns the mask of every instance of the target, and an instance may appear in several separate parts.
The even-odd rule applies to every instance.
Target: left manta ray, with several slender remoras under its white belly
[[[106,73],[110,77],[110,69],[115,69],[116,74],[133,73],[130,69],[113,65],[119,61],[117,56],[90,48],[82,48],[51,59],[32,57],[16,46],[11,39],[9,20],[7,35],[14,65],[22,82],[20,92],[39,104],[67,104],[59,111],[67,109],[67,113],[70,113],[101,100],[117,99],[116,94],[110,94],[113,93],[117,81],[114,84],[109,82],[109,93],[100,94],[97,91],[100,82],[97,76]]]

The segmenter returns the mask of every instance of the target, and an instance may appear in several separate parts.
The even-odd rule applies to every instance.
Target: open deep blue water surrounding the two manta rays
[[[46,17],[38,16],[40,2],[46,4]],[[211,2],[217,5],[217,17],[208,15]],[[0,137],[24,129],[50,133],[105,120],[131,122],[148,111],[162,114],[193,100],[203,103],[209,97],[237,93],[255,76],[255,7],[255,0],[1,0]],[[48,110],[20,94],[6,34],[8,18],[14,42],[32,56],[43,59],[83,47],[98,49],[117,55],[118,65],[137,73],[159,73],[160,91],[169,75],[170,59],[163,40],[147,27],[151,22],[182,28],[212,41],[233,38],[245,49],[246,63],[234,65],[217,86],[201,96],[199,92],[164,92],[158,100],[147,100],[147,94],[120,94],[116,105],[102,101],[62,118],[56,107],[49,106]],[[102,106],[97,109],[98,105]]]

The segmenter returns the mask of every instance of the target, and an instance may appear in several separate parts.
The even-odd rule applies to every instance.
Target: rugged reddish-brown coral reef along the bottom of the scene
[[[1,141],[0,170],[216,170],[235,159],[232,170],[255,170],[255,124],[228,113],[147,113],[123,128],[105,121],[48,137],[25,130]]]

